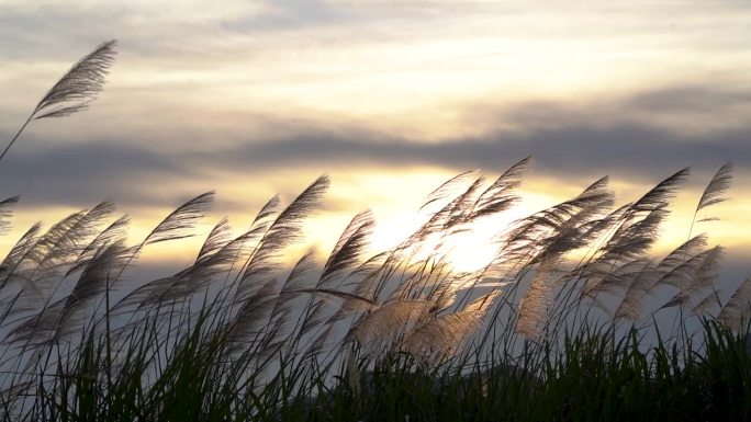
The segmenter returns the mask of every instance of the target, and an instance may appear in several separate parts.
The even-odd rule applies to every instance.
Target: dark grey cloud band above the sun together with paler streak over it
[[[529,103],[495,111],[479,105],[468,114],[477,110],[475,118],[489,126],[500,122],[502,128],[473,138],[413,141],[363,129],[348,134],[335,126],[294,127],[284,137],[280,126],[272,141],[248,138],[216,157],[254,169],[378,163],[498,171],[533,155],[538,171],[551,176],[610,174],[651,183],[686,166],[714,171],[727,160],[740,169],[750,164],[751,125],[739,113],[750,107],[748,90],[671,87],[590,104]],[[660,118],[650,119],[650,114]],[[724,128],[692,132],[682,124],[733,114]]]

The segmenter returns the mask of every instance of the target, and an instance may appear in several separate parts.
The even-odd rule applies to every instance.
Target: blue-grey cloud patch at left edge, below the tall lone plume
[[[0,163],[0,178],[4,194],[21,194],[24,206],[83,207],[104,198],[131,206],[162,205],[172,199],[171,193],[153,187],[192,173],[176,160],[133,144],[96,139],[32,150],[16,146]]]

